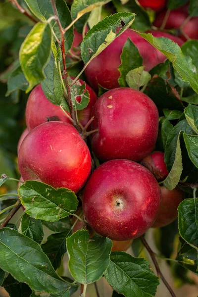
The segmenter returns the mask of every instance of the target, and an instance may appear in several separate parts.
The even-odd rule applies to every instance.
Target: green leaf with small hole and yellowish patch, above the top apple
[[[119,12],[105,17],[97,25],[88,31],[81,44],[81,55],[85,64],[96,57],[105,49],[116,37],[122,34],[133,23],[134,13]],[[122,26],[124,23],[124,26]],[[116,32],[116,28],[122,29]]]

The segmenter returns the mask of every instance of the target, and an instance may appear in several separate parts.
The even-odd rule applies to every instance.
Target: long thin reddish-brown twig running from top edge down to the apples
[[[67,90],[67,100],[68,100],[68,104],[70,107],[70,112],[71,112],[71,117],[74,121],[74,127],[78,130],[79,133],[81,133],[81,128],[78,124],[78,121],[76,119],[76,113],[72,104],[72,99],[71,99],[71,90],[70,90],[70,86],[69,86],[69,82],[68,82],[68,77],[67,77],[67,68],[66,68],[66,54],[65,54],[65,40],[64,40],[64,29],[62,28],[62,25],[60,23],[60,20],[58,18],[58,14],[57,14],[57,9],[56,9],[56,5],[55,5],[55,0],[51,0],[51,4],[52,4],[52,8],[53,8],[53,12],[56,16],[56,22],[60,31],[60,35],[61,35],[61,52],[62,52],[62,64],[63,64],[63,76],[64,76],[64,80],[65,80],[65,85],[66,85],[66,90]]]

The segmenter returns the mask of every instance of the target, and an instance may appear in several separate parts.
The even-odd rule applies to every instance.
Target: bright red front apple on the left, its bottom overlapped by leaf
[[[51,121],[26,136],[19,150],[18,166],[24,181],[40,180],[77,193],[90,175],[91,155],[72,125]]]

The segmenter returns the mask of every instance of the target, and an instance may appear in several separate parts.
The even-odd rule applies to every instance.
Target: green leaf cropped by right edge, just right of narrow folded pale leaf
[[[188,151],[189,158],[198,168],[198,135],[184,134],[184,141]]]

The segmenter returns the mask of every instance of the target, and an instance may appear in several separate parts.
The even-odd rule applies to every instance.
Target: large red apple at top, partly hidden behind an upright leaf
[[[160,36],[163,36],[161,32],[159,32],[159,34],[161,34]],[[171,34],[166,34],[164,37],[168,37],[175,42],[179,41],[179,39]],[[121,64],[120,55],[128,38],[130,38],[139,49],[146,71],[149,71],[158,63],[161,63],[166,59],[165,55],[159,52],[158,49],[155,49],[138,33],[134,32],[132,29],[127,29],[107,48],[102,50],[102,52],[95,57],[85,69],[88,83],[96,92],[98,92],[99,89],[98,85],[105,89],[119,87],[118,78],[120,77],[120,72],[118,66]]]

